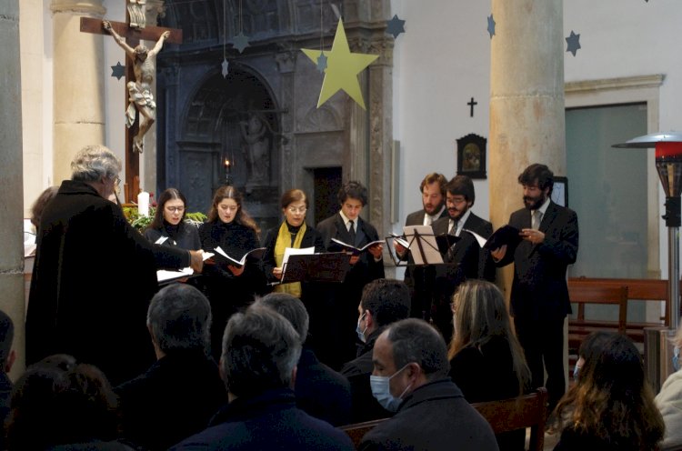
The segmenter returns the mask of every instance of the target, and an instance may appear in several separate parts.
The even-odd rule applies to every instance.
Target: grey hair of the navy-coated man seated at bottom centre
[[[263,306],[233,315],[223,336],[220,359],[227,391],[256,396],[291,386],[301,356],[301,339],[284,316]]]

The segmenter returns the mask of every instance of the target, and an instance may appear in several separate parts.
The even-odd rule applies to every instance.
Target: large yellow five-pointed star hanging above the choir
[[[317,58],[322,54],[322,50],[309,48],[302,48],[301,51],[315,64],[317,64]],[[351,53],[348,48],[344,23],[341,19],[338,19],[332,50],[330,52],[327,51],[325,55],[327,58],[325,80],[322,82],[322,90],[320,90],[320,98],[317,100],[317,107],[322,106],[339,89],[343,89],[347,95],[350,95],[356,101],[357,105],[362,106],[362,109],[366,110],[365,100],[360,91],[360,83],[357,81],[357,74],[365,70],[366,66],[372,64],[379,55]]]

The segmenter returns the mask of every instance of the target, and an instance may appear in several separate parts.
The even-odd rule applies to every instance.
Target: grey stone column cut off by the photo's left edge
[[[24,353],[24,253],[22,216],[21,70],[19,61],[19,0],[0,2],[0,42],[10,51],[0,52],[0,185],[5,194],[0,227],[0,309],[15,323],[14,349],[18,360],[12,376],[21,374]]]

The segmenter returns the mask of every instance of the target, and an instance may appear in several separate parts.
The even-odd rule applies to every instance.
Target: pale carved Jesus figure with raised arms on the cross
[[[108,20],[102,21],[102,26],[109,32],[121,48],[125,50],[133,61],[135,81],[128,82],[128,107],[125,110],[125,118],[128,128],[135,124],[135,115],[139,112],[139,129],[133,138],[135,151],[142,153],[143,138],[145,133],[154,124],[156,118],[156,104],[152,95],[152,83],[156,73],[155,58],[164,46],[170,32],[164,32],[153,49],[149,50],[145,45],[137,45],[135,48],[127,45],[125,39],[115,32]]]

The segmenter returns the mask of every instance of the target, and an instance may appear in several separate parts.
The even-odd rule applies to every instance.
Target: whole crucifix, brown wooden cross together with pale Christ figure
[[[127,23],[130,23],[129,10],[125,16]],[[128,106],[125,112],[127,122],[124,191],[125,203],[130,204],[135,201],[140,191],[142,138],[155,120],[155,103],[150,91],[156,70],[155,55],[161,50],[164,41],[173,44],[182,43],[183,32],[175,28],[145,26],[144,24],[140,27],[137,21],[135,21],[137,27],[128,26],[127,23],[81,17],[81,32],[113,35],[116,44],[123,47],[128,56],[125,65],[125,96]],[[155,47],[152,50],[146,49],[144,45],[140,45],[143,39],[156,41]]]

